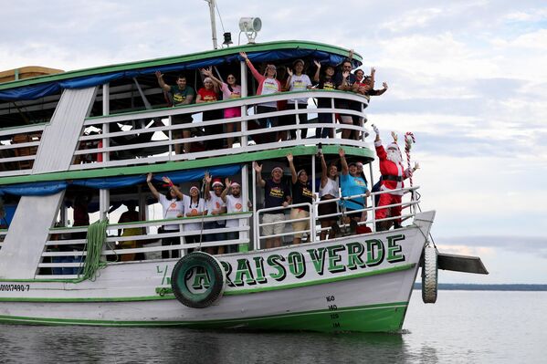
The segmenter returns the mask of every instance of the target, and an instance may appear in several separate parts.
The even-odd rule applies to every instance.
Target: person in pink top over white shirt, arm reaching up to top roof
[[[248,59],[247,54],[245,52],[239,52],[239,55],[245,59],[245,62],[247,63],[247,67],[250,68],[254,78],[257,79],[258,81],[257,95],[271,95],[271,94],[281,92],[281,83],[276,78],[277,68],[274,65],[267,65],[265,74],[261,75],[260,72],[258,72],[257,68],[255,68],[253,64],[251,63],[251,61]],[[257,114],[275,112],[277,110],[278,110],[277,101],[268,101],[268,102],[263,102],[257,105]],[[278,126],[277,117],[268,117],[268,118],[263,118],[258,120],[260,127],[267,128],[268,120],[272,128]],[[268,142],[274,142],[274,141],[277,141],[276,133],[264,134],[263,142],[268,143]]]

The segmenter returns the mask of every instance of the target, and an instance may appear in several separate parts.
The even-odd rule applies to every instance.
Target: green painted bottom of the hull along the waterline
[[[184,327],[251,330],[305,330],[320,332],[388,332],[403,327],[408,302],[364,307],[324,309],[269,317],[211,321],[111,321],[66,318],[0,316],[0,323],[17,325],[79,325],[108,327]]]

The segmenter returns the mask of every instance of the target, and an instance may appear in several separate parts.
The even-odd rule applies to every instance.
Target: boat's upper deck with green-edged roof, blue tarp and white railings
[[[252,161],[273,157],[271,151],[281,147],[315,148],[320,143],[355,147],[350,154],[364,161],[373,159],[364,139],[340,138],[343,130],[356,130],[364,136],[363,124],[336,123],[336,115],[342,111],[365,118],[367,99],[352,92],[319,89],[299,95],[283,92],[252,96],[257,82],[238,55],[241,50],[257,68],[266,63],[290,67],[294,59],[302,58],[310,78],[315,71],[313,60],[334,66],[348,56],[348,50],[342,47],[302,41],[270,42],[2,83],[0,185],[139,174],[144,169],[151,171],[151,164],[153,172],[160,172]],[[360,63],[361,57],[354,55],[353,65]],[[199,69],[211,66],[217,76],[234,73],[240,78],[241,99],[170,107],[154,72],[161,71],[170,85],[175,85],[177,74],[184,73],[188,85],[197,90],[202,87]],[[265,102],[280,104],[297,96],[310,99],[308,108],[280,108],[264,115],[289,120],[285,125],[268,128],[268,134],[293,131],[294,138],[264,138],[265,130],[259,129],[256,121],[256,106]],[[316,107],[319,99],[330,100],[330,107]],[[349,100],[358,107],[338,109],[335,100]],[[226,130],[227,120],[222,116],[226,108],[241,109],[241,117],[229,120],[234,126],[231,130]],[[216,118],[203,121],[204,112],[215,111]],[[319,122],[320,111],[329,113],[331,121]],[[309,123],[300,125],[299,114],[307,114]],[[173,123],[174,117],[182,115],[193,116],[194,122]],[[310,135],[318,128],[332,130],[334,138]],[[308,138],[303,138],[303,130],[311,130]],[[231,148],[228,140],[233,141]],[[187,151],[177,153],[177,145],[184,145]]]

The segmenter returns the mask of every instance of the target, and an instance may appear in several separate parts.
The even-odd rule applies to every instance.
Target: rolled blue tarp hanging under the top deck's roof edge
[[[313,57],[323,65],[338,65],[342,63],[344,57],[334,55],[328,52],[313,50],[313,49],[286,49],[286,50],[271,50],[262,52],[251,52],[248,57],[253,62],[276,62],[289,58]],[[242,58],[239,55],[199,59],[191,62],[185,62],[174,65],[160,66],[154,68],[142,68],[136,70],[128,70],[121,72],[111,72],[102,75],[93,75],[80,78],[71,78],[61,81],[53,81],[40,83],[32,86],[21,88],[12,88],[0,90],[0,100],[16,101],[25,99],[40,99],[47,95],[58,93],[63,88],[90,88],[93,86],[103,85],[110,81],[121,78],[135,78],[142,75],[151,75],[155,71],[174,72],[183,71],[185,69],[197,69],[210,66],[220,66],[225,63],[239,61]],[[359,62],[353,61],[355,67],[359,66]]]

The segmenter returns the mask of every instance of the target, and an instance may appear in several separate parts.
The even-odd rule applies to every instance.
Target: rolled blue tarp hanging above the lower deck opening
[[[233,176],[241,171],[241,165],[232,164],[220,167],[197,168],[187,171],[165,172],[155,174],[154,182],[162,182],[162,177],[167,176],[174,183],[200,182],[204,178],[205,171],[213,177]],[[32,182],[0,186],[0,195],[8,193],[18,196],[46,196],[65,190],[69,185],[85,186],[93,189],[112,189],[132,186],[146,182],[146,175],[106,177],[74,180],[70,182]]]

